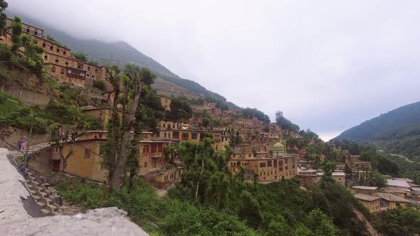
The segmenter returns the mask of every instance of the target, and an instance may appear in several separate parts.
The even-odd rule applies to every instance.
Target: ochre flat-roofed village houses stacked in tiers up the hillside
[[[11,45],[11,28],[13,20],[7,19],[0,43]],[[65,163],[65,170],[77,176],[95,181],[107,181],[107,169],[103,167],[100,146],[107,140],[107,123],[112,116],[111,105],[115,100],[114,92],[110,89],[106,71],[112,70],[106,66],[85,63],[73,56],[70,48],[66,48],[43,36],[43,29],[23,23],[23,32],[36,39],[36,45],[41,46],[44,64],[51,77],[58,82],[68,83],[78,87],[92,87],[95,80],[107,83],[107,91],[103,92],[103,99],[108,106],[81,107],[85,114],[90,114],[100,122],[101,129],[90,130],[78,136],[74,142],[67,141],[66,127],[60,127],[58,139],[65,145],[60,150],[55,144],[47,144],[41,148],[31,150],[31,155],[39,162],[29,161],[32,171],[37,173],[53,172],[63,169],[60,151],[64,156],[71,149],[70,158]],[[170,111],[172,98],[158,95],[165,110]],[[325,155],[318,155],[315,159],[308,158],[306,149],[298,149],[285,143],[286,136],[302,139],[298,132],[281,129],[278,124],[265,124],[256,117],[244,118],[241,110],[221,109],[216,102],[205,102],[192,106],[195,116],[187,120],[159,120],[157,132],[142,132],[138,147],[139,176],[152,183],[156,188],[170,188],[177,183],[183,171],[182,163],[174,155],[174,161],[168,161],[165,155],[170,146],[177,146],[183,141],[203,141],[204,137],[213,139],[214,151],[224,152],[231,149],[231,159],[228,167],[231,173],[245,172],[246,181],[271,183],[283,179],[296,178],[302,188],[310,188],[318,183],[324,171],[315,168],[315,161],[322,162]],[[121,112],[118,111],[121,115]],[[204,116],[217,121],[217,126],[204,125]],[[309,146],[315,145],[311,139]],[[286,148],[288,146],[288,148]],[[375,186],[354,186],[345,166],[350,166],[353,172],[365,174],[372,170],[372,164],[364,161],[358,155],[351,155],[348,150],[340,147],[335,149],[342,162],[337,161],[331,176],[337,182],[349,188],[371,213],[381,210],[394,209],[398,206],[406,207],[415,200],[419,200],[420,187],[414,181],[406,178],[386,176],[386,188]],[[16,156],[21,153],[15,151]],[[48,163],[43,165],[41,163]]]

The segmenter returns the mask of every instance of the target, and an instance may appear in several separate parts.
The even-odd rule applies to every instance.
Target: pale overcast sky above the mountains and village
[[[418,102],[420,1],[9,0],[80,38],[126,41],[175,74],[330,139]]]

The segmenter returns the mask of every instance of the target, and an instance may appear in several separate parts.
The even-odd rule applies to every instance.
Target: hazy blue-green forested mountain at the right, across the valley
[[[335,139],[368,142],[390,153],[420,156],[420,102],[369,119]]]

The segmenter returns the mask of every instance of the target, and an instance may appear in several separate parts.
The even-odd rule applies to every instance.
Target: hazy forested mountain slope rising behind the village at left
[[[178,75],[175,75],[163,65],[152,58],[149,58],[136,48],[133,48],[128,43],[123,41],[106,43],[98,40],[75,38],[63,31],[48,26],[46,23],[33,18],[28,18],[22,14],[15,14],[13,12],[8,12],[7,14],[9,17],[18,15],[23,22],[43,28],[44,35],[53,36],[53,38],[56,38],[56,40],[62,45],[68,46],[68,48],[70,48],[74,53],[81,52],[88,54],[88,60],[93,59],[100,63],[100,65],[117,64],[120,65],[120,68],[124,68],[126,63],[135,63],[149,68],[157,75],[157,77],[159,77],[160,80],[164,80],[157,81],[155,86],[157,90],[162,90],[162,92],[166,94],[172,93],[175,95],[187,95],[189,97],[211,96],[226,102],[225,97],[217,94],[216,92],[206,90],[205,87],[199,85],[197,82],[186,80]],[[229,102],[229,106],[232,108],[238,108],[231,102]]]

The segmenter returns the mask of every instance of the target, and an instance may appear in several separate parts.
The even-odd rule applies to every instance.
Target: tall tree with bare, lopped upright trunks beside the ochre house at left
[[[155,75],[147,68],[137,65],[125,65],[125,73],[117,74],[117,68],[107,69],[107,80],[110,81],[115,97],[112,104],[112,117],[110,119],[110,132],[108,141],[104,145],[106,149],[103,156],[105,166],[109,171],[108,180],[112,188],[120,188],[122,178],[127,170],[127,159],[135,146],[136,140],[132,138],[132,129],[137,127],[136,114],[140,105],[140,97],[145,89],[152,85]],[[120,85],[122,84],[122,96],[120,97]],[[145,86],[145,87],[143,87]],[[117,107],[121,105],[122,117],[118,116]]]

